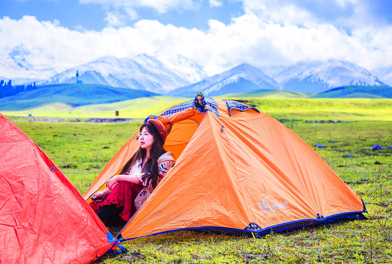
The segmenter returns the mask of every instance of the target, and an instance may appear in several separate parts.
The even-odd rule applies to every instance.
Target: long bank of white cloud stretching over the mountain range
[[[61,72],[105,55],[133,57],[163,51],[196,61],[209,75],[240,63],[261,67],[335,58],[372,70],[392,61],[392,26],[357,26],[347,34],[317,22],[311,12],[292,4],[282,6],[279,13],[249,0],[244,15],[229,25],[210,20],[207,31],[154,20],[121,26],[121,17],[115,13],[108,13],[107,21],[115,27],[94,31],[71,30],[58,21],[40,22],[31,16],[4,17],[0,19],[0,57],[23,45],[29,53],[26,60],[36,68]]]

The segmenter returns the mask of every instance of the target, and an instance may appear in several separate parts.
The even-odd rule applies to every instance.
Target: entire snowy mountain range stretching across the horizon
[[[23,46],[11,51],[6,58],[0,58],[0,74],[11,79],[14,84],[37,76],[38,70],[28,62],[30,54]],[[253,70],[242,69],[253,67]],[[48,69],[45,68],[45,74]],[[238,70],[228,76],[228,72]],[[257,69],[257,70],[256,70]],[[23,72],[25,77],[13,79],[4,73]],[[222,73],[208,77],[203,67],[192,60],[176,54],[157,51],[153,55],[139,54],[132,58],[104,56],[88,63],[72,67],[50,78],[36,81],[40,84],[97,83],[114,87],[147,90],[160,94],[188,95],[201,89],[209,95],[230,92],[246,92],[252,89],[281,89],[313,93],[343,85],[385,86],[392,83],[392,68],[378,70],[382,78],[344,60],[298,62],[289,66],[256,68],[250,64],[240,64]],[[259,72],[261,71],[261,73]],[[265,74],[268,73],[268,75]],[[26,75],[26,73],[28,73]],[[384,81],[385,79],[385,81]],[[25,82],[32,83],[30,82]],[[188,91],[185,91],[188,90]]]

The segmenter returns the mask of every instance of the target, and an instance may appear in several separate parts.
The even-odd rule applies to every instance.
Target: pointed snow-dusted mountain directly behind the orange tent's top
[[[205,96],[240,93],[255,89],[277,89],[277,83],[261,70],[249,64],[241,64],[229,71],[214,75],[192,85],[180,87],[171,94],[194,96],[202,92]]]

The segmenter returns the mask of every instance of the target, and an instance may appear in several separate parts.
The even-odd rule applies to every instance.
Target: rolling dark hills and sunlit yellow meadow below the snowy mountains
[[[104,85],[68,84],[55,86],[55,89],[53,86],[55,85],[43,86],[28,91],[30,94],[23,92],[15,97],[0,99],[0,112],[14,116],[33,114],[53,117],[114,118],[115,110],[119,110],[120,118],[145,118],[192,99],[151,96],[152,93],[145,91]],[[63,91],[60,92],[58,89]],[[57,90],[58,94],[53,90]],[[36,96],[35,99],[27,98],[31,93]],[[147,93],[148,96],[136,98],[143,93]],[[391,95],[391,87],[344,86],[319,94],[254,90],[219,97],[254,106],[277,119],[392,120],[392,99],[389,99],[392,98]],[[4,107],[5,105],[7,107]]]

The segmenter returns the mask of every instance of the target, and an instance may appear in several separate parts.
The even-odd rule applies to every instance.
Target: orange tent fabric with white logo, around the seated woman
[[[189,229],[262,235],[365,218],[361,198],[279,121],[235,101],[206,102],[206,113],[185,102],[156,117],[173,124],[164,147],[176,164],[118,238]],[[135,135],[90,186],[87,201],[135,153]]]

